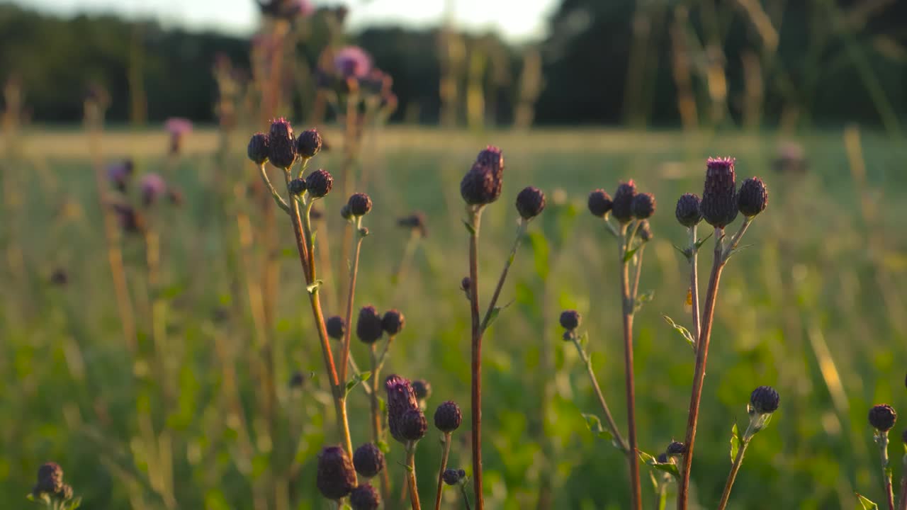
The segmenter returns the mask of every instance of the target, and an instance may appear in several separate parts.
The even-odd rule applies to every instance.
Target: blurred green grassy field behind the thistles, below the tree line
[[[84,133],[23,132],[12,150],[7,147],[0,166],[0,502],[21,501],[34,481],[34,466],[53,458],[68,466],[66,479],[83,495],[86,508],[161,508],[152,490],[157,474],[143,456],[139,436],[141,424],[153,414],[149,409],[157,405],[158,387],[176,384],[179,395],[166,424],[174,438],[174,493],[180,508],[250,508],[254,480],[267,466],[244,453],[247,444],[282,448],[290,456],[297,450],[304,461],[291,483],[298,507],[329,507],[315,489],[314,466],[325,442],[322,417],[333,419],[334,413],[327,381],[308,377],[321,374],[323,365],[292,230],[282,215],[275,253],[279,292],[269,330],[280,361],[275,375],[279,414],[291,442],[243,436],[241,420],[228,405],[235,383],[251,417],[258,385],[246,281],[250,272],[260,272],[248,262],[261,258],[256,229],[264,221],[258,199],[236,192],[258,179],[245,157],[248,134],[237,132],[231,143],[235,153],[224,158],[215,155],[217,132],[193,132],[184,155],[165,174],[185,199],[180,209],[161,208],[154,218],[162,227],[172,381],[150,377],[149,368],[134,362],[122,341]],[[326,132],[326,140],[337,140],[339,149],[334,134]],[[384,373],[431,381],[430,409],[454,399],[465,412],[469,403],[469,311],[459,289],[468,272],[459,193],[463,172],[486,143],[502,148],[507,163],[502,200],[483,214],[483,300],[512,242],[516,192],[532,184],[548,196],[548,209],[532,222],[502,293],[502,302],[512,305],[484,342],[490,507],[532,507],[546,476],[554,486],[554,507],[628,505],[625,461],[587,430],[580,413],[600,410],[575,349],[561,341],[557,325],[561,309],[582,313],[601,386],[625,429],[616,249],[585,205],[589,191],[613,192],[619,180],[635,179],[640,191],[651,191],[658,200],[655,240],[646,250],[640,284],[640,290],[654,290],[654,299],[636,319],[639,445],[658,453],[683,436],[694,357],[661,315],[689,322],[687,265],[672,247],[686,233],[674,220],[674,203],[683,192],[701,194],[709,155],[735,156],[738,182],[761,176],[770,198],[747,233],[745,242],[753,246],[734,257],[722,280],[694,460],[694,497],[706,508],[717,504],[730,466],[731,426],[735,420],[746,422],[750,391],[766,384],[780,393],[781,407],[747,450],[729,507],[852,509],[854,490],[882,499],[866,413],[882,401],[907,409],[907,201],[902,200],[907,147],[902,143],[857,131],[782,139],[770,133],[476,135],[391,128],[369,136],[363,151],[365,182],[356,191],[367,191],[375,205],[365,220],[371,235],[363,246],[356,309],[371,303],[403,311],[406,328]],[[802,145],[805,174],[775,171],[777,149],[787,142]],[[104,136],[102,148],[105,163],[129,156],[139,175],[165,172],[164,133],[115,131]],[[323,152],[311,164],[336,172],[340,157],[339,150]],[[342,176],[335,173],[335,178],[334,191],[317,205],[327,213],[317,222],[317,240],[320,247],[327,242],[334,257],[324,288],[330,315],[341,311],[331,276],[346,270],[346,262],[338,260],[339,209],[346,197]],[[409,238],[395,219],[415,210],[426,214],[429,236],[394,284],[391,275]],[[250,249],[240,242],[249,232],[238,226],[238,213],[249,214]],[[123,250],[143,338],[140,350],[150,349],[145,345],[151,324],[141,237],[124,236]],[[704,250],[700,268],[708,267],[710,254]],[[57,269],[68,275],[65,286],[50,284]],[[366,360],[366,349],[353,344],[356,359]],[[291,390],[286,381],[296,370],[307,380]],[[546,394],[550,406],[543,404]],[[367,399],[358,388],[349,405],[359,444],[368,428],[358,418],[367,413]],[[452,466],[469,467],[467,428],[454,435]],[[424,501],[434,495],[437,438],[431,429],[416,456]],[[892,438],[895,479],[902,469],[899,445]],[[402,448],[392,447],[388,467],[402,473]],[[648,478],[648,467],[642,469]],[[651,507],[655,497],[648,486],[643,491]],[[456,505],[459,501],[451,497],[448,507]]]

